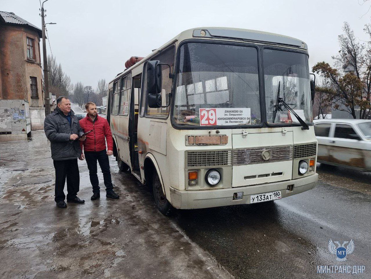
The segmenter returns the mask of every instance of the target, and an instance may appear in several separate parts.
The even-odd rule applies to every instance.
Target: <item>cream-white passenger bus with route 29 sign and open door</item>
[[[317,140],[308,46],[256,30],[185,30],[108,86],[121,171],[163,214],[275,201],[312,189]]]

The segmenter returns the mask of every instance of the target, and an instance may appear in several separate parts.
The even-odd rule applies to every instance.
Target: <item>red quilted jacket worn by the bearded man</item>
[[[111,128],[107,120],[103,117],[96,116],[95,121],[91,120],[89,114],[86,114],[86,117],[79,121],[81,128],[84,130],[84,133],[93,130],[93,132],[86,135],[86,140],[80,142],[81,149],[85,151],[102,151],[106,149],[106,140],[108,150],[114,148]]]

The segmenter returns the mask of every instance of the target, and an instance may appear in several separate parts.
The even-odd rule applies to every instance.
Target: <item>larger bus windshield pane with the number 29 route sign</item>
[[[260,124],[256,48],[185,43],[179,63],[173,110],[178,126]]]

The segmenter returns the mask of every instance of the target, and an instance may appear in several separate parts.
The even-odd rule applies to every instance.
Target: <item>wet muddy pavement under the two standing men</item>
[[[0,278],[232,278],[113,157],[119,200],[100,185],[101,199],[91,201],[79,161],[86,202],[57,208],[50,146],[43,131],[32,133],[32,141],[0,143]]]

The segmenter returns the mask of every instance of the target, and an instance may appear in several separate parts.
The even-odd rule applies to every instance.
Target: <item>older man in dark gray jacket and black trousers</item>
[[[52,159],[55,168],[55,202],[57,207],[67,207],[65,203],[65,182],[67,178],[67,201],[83,204],[85,201],[77,197],[80,186],[80,173],[77,158],[81,157],[78,140],[84,132],[79,120],[71,110],[71,103],[66,97],[57,99],[55,110],[45,117],[44,131],[50,140]],[[80,138],[79,138],[80,137]]]

